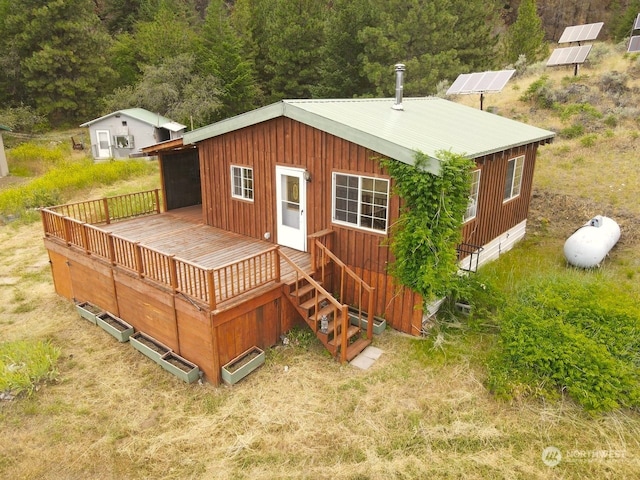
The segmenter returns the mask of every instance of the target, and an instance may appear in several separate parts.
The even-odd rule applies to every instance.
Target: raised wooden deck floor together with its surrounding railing
[[[281,270],[278,250],[286,247],[194,223],[189,210],[185,216],[177,211],[159,214],[147,202],[149,198],[157,201],[157,191],[126,197],[117,197],[117,205],[142,208],[120,209],[117,217],[105,214],[113,213],[111,199],[44,208],[45,236],[169,288],[211,311],[271,282],[279,283],[283,273],[293,274],[288,265]],[[110,208],[104,210],[104,205]],[[85,219],[108,224],[109,230]],[[111,223],[115,219],[119,221]],[[309,267],[309,254],[292,252],[303,268]]]

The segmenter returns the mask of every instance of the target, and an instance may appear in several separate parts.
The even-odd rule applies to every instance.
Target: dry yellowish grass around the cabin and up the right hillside
[[[617,294],[640,298],[640,60],[619,47],[598,50],[577,78],[570,69],[538,66],[486,98],[498,114],[571,129],[540,151],[527,238],[477,277],[495,289],[486,294],[490,307],[498,296],[513,303],[540,280],[566,275],[578,284],[617,285],[608,303]],[[626,75],[623,86],[613,72]],[[557,104],[521,101],[543,74],[546,87],[533,93]],[[479,105],[477,97],[455,100]],[[157,182],[154,172],[78,195]],[[564,240],[596,214],[620,223],[619,244],[598,271],[567,269]],[[2,477],[640,476],[637,410],[591,414],[563,392],[504,400],[489,391],[498,343],[489,314],[475,327],[443,316],[424,339],[387,331],[376,337],[384,353],[367,371],[334,362],[297,331],[233,388],[187,386],[78,318],[54,293],[41,237],[38,223],[0,227],[0,338],[51,342],[60,352],[55,381],[29,397],[0,400]],[[563,457],[555,467],[542,459],[550,446]]]

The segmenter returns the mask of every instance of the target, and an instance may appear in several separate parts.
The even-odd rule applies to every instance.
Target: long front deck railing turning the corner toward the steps
[[[43,208],[41,215],[45,236],[56,238],[68,247],[79,248],[140,278],[168,287],[175,293],[203,302],[211,310],[269,282],[280,282],[278,246],[221,267],[205,268],[63,213],[72,212],[95,220],[98,217],[90,212],[96,210],[90,210],[90,206],[100,203],[96,202],[74,204],[84,205],[80,209],[67,206]],[[128,203],[123,202],[122,205]],[[103,218],[102,223],[109,223],[104,220],[105,217],[100,218]],[[114,219],[113,216],[106,218]]]

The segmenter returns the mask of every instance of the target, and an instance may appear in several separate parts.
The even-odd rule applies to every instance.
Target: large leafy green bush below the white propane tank
[[[568,394],[590,411],[640,407],[640,308],[595,275],[543,278],[500,315],[489,387],[500,396]]]

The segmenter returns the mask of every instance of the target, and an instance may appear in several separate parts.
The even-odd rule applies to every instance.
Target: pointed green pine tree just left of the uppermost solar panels
[[[518,8],[518,17],[507,31],[505,40],[505,59],[514,63],[524,55],[527,63],[534,63],[548,52],[544,43],[542,20],[538,16],[535,0],[522,0]]]

